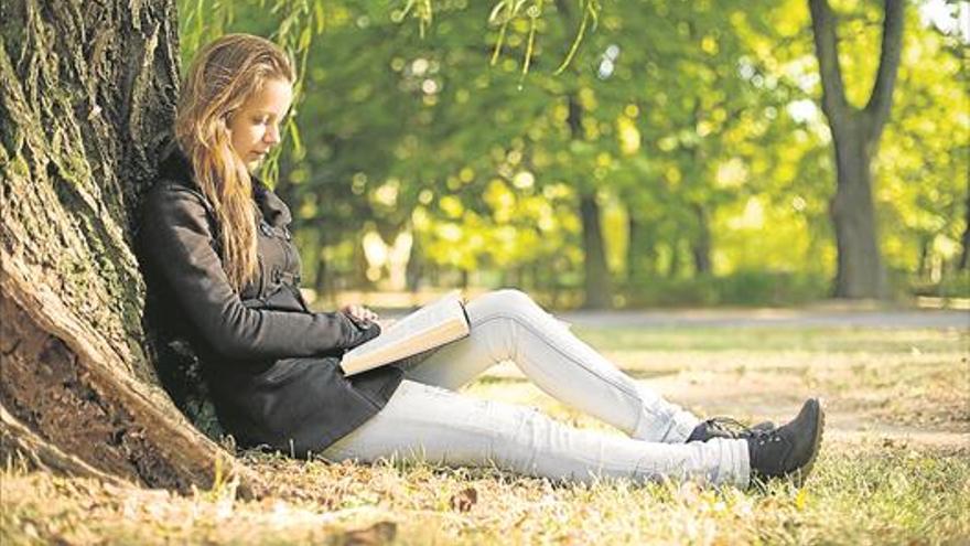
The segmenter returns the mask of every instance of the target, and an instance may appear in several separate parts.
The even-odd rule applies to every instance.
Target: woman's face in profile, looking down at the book
[[[280,143],[280,122],[292,100],[293,86],[289,82],[268,79],[229,118],[233,149],[250,171]]]

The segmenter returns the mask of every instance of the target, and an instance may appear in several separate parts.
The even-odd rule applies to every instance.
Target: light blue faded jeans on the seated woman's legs
[[[744,440],[685,443],[700,422],[697,417],[637,385],[524,292],[489,292],[472,300],[467,311],[471,334],[407,364],[406,379],[387,406],[327,448],[326,459],[494,464],[582,482],[669,478],[747,485]],[[549,395],[628,437],[578,429],[529,407],[456,392],[505,361]]]

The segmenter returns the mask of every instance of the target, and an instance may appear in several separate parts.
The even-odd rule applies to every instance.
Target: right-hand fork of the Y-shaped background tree
[[[905,20],[905,0],[885,0],[883,18],[883,40],[880,52],[880,65],[869,104],[865,105],[867,121],[866,138],[870,143],[879,140],[890,107],[893,104],[893,88],[899,72],[899,56],[903,52],[903,23]]]

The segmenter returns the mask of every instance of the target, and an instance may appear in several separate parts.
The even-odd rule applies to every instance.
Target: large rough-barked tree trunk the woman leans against
[[[160,388],[131,250],[179,87],[174,2],[0,3],[0,451],[188,491],[258,485]]]

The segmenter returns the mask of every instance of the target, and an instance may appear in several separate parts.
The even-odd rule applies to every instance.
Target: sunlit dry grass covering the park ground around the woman
[[[0,544],[970,544],[968,338],[945,330],[621,330],[580,335],[701,415],[785,419],[828,400],[802,489],[624,481],[563,485],[494,469],[374,467],[246,453],[274,493],[233,483],[177,496],[26,472],[0,474]],[[510,365],[473,396],[607,430]]]

